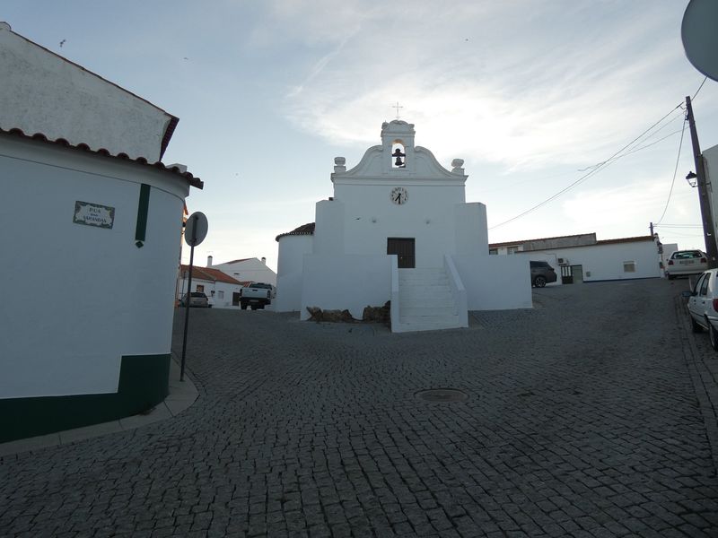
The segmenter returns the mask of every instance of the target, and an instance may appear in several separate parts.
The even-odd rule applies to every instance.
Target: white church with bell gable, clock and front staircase
[[[486,205],[467,203],[468,176],[415,146],[413,124],[381,126],[381,145],[346,169],[316,221],[280,234],[277,311],[348,309],[391,301],[393,332],[468,326],[469,310],[531,308],[529,262],[489,256]]]

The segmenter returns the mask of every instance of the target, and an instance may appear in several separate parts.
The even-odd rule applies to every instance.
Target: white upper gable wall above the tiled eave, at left
[[[171,116],[0,24],[0,127],[160,160]],[[111,126],[111,128],[109,128]]]

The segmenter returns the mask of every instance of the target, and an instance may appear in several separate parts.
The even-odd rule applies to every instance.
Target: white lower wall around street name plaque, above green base
[[[116,392],[123,355],[170,352],[186,180],[130,161],[0,137],[0,398]],[[151,188],[135,245],[140,184]],[[76,201],[115,208],[111,230]]]

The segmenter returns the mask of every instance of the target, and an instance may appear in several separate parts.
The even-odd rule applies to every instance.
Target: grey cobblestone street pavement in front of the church
[[[549,287],[425,334],[192,310],[197,403],[5,457],[0,535],[718,536],[718,354],[686,282]]]

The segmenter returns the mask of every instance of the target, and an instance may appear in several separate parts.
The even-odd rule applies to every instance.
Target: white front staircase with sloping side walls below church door
[[[392,331],[435,331],[460,327],[461,321],[443,268],[398,270],[399,323]]]

